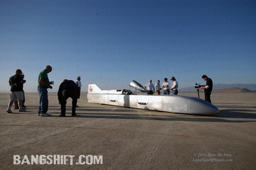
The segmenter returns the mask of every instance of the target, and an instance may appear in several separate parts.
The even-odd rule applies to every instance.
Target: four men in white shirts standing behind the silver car
[[[157,92],[157,95],[161,95],[160,90],[162,89],[164,89],[164,95],[170,95],[170,90],[172,90],[173,95],[178,95],[178,82],[176,81],[175,77],[172,77],[170,80],[173,81],[172,87],[168,79],[164,78],[164,83],[162,86],[160,86],[160,80],[157,80],[157,83],[154,86],[154,84],[152,84],[152,80],[150,79],[149,83],[146,84],[144,88],[149,91],[148,95],[153,95],[155,91]]]

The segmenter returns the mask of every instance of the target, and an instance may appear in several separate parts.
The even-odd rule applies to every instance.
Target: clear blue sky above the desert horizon
[[[58,90],[81,77],[101,89],[129,89],[174,76],[179,88],[205,83],[256,84],[253,0],[1,0],[0,91],[21,69],[36,92],[46,65]]]

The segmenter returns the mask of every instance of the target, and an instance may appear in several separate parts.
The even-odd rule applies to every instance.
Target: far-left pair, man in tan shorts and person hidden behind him
[[[24,91],[23,91],[23,84],[26,83],[26,80],[22,78],[22,71],[17,69],[15,75],[10,77],[9,85],[11,86],[10,89],[10,99],[8,104],[7,113],[12,113],[11,107],[14,101],[18,100],[19,103],[19,112],[25,112],[26,110],[22,108],[22,100],[24,99]]]

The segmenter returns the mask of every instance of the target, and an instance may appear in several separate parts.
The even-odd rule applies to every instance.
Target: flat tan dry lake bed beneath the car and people
[[[39,117],[37,93],[25,93],[27,112],[12,107],[12,114],[6,112],[9,93],[0,93],[0,169],[256,167],[256,93],[213,93],[212,103],[220,110],[215,116],[88,103],[87,93],[82,93],[77,116],[71,117],[68,99],[67,117],[59,117],[57,93],[48,95],[52,116]],[[197,97],[197,93],[179,95]],[[21,157],[20,163],[14,155]],[[36,155],[72,155],[73,160],[67,157],[66,164],[56,160],[54,164],[45,158],[46,162],[32,164]],[[102,164],[87,163],[87,155],[102,155]]]

